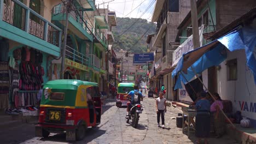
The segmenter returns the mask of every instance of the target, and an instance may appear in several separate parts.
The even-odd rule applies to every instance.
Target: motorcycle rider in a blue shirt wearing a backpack
[[[131,101],[127,103],[126,118],[129,118],[129,112],[130,112],[132,105],[141,104],[141,101],[143,101],[143,96],[142,96],[142,93],[139,92],[139,90],[138,90],[138,85],[135,84],[133,86],[133,88],[134,88],[133,91],[129,92],[127,95],[124,95],[125,98],[127,96],[131,97]],[[135,95],[138,95],[137,101],[135,101]]]

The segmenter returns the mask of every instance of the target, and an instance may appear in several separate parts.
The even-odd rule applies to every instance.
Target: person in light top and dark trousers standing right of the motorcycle
[[[160,115],[162,119],[162,128],[165,128],[165,112],[166,112],[166,99],[164,93],[159,92],[159,97],[156,99],[156,113],[158,115],[158,127],[160,127]]]

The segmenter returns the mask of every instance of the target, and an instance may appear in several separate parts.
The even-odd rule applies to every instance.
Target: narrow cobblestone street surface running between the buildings
[[[194,143],[194,133],[190,139],[176,127],[178,108],[167,107],[165,116],[166,129],[158,128],[156,123],[155,99],[143,101],[144,111],[140,115],[137,129],[125,122],[126,109],[115,106],[114,100],[107,100],[103,106],[102,122],[97,128],[89,128],[82,141],[72,143]],[[8,132],[8,133],[7,133]],[[22,124],[19,127],[1,130],[1,143],[68,143],[65,134],[51,134],[48,139],[34,137],[34,125]],[[223,136],[222,139],[210,139],[210,143],[236,143]]]

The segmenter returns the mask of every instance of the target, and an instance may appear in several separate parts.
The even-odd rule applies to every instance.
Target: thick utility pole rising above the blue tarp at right
[[[197,47],[200,47],[196,0],[190,0],[190,5],[191,5],[191,19],[192,19],[192,32],[193,32],[193,46],[194,46],[194,49],[196,49]]]

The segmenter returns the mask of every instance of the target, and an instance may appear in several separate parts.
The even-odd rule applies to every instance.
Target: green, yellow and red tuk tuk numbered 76
[[[66,131],[66,140],[82,140],[88,127],[101,122],[98,84],[80,80],[54,80],[44,85],[36,136]]]

